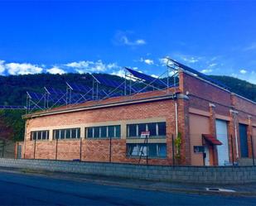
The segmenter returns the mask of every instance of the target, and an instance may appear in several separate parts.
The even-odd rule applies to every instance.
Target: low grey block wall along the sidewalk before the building
[[[0,158],[0,166],[185,183],[243,184],[256,182],[256,167],[254,166],[133,165],[6,158]]]

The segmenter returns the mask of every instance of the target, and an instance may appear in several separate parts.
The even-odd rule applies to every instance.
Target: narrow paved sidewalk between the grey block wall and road
[[[184,192],[188,194],[222,194],[233,196],[255,196],[256,197],[256,183],[254,184],[186,184],[176,182],[159,182],[148,180],[134,180],[126,178],[117,178],[111,176],[99,175],[81,175],[76,173],[50,172],[45,170],[22,170],[16,168],[0,167],[0,172],[10,172],[24,175],[41,175],[53,179],[71,180],[79,182],[90,182],[94,184],[114,185],[124,188],[133,189],[149,189],[165,192]],[[211,189],[231,189],[230,191],[207,191],[206,188]]]

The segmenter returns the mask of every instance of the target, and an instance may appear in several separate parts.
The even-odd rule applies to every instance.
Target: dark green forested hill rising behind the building
[[[110,79],[120,80],[117,76],[110,74],[97,74],[108,76]],[[245,98],[256,102],[256,84],[250,84],[241,79],[229,76],[210,76],[226,84],[229,89]],[[52,87],[65,89],[65,82],[80,83],[91,86],[91,75],[89,74],[28,74],[0,76],[0,105],[26,105],[26,92],[43,92],[43,88]]]

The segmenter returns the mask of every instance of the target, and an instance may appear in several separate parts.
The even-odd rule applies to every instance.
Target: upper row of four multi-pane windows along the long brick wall
[[[149,132],[150,137],[165,137],[166,122],[150,122],[127,125],[127,137],[141,137],[142,132]],[[87,138],[120,138],[121,126],[86,127]],[[54,139],[76,139],[80,138],[80,128],[56,129],[53,130]],[[31,132],[32,140],[48,140],[49,130]]]

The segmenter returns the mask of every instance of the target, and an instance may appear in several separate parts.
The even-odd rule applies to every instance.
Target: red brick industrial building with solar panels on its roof
[[[63,93],[66,105],[24,117],[22,158],[232,165],[255,156],[256,103],[175,60],[168,67],[174,71],[170,79],[169,69],[166,79],[128,69],[145,88],[134,89],[131,79],[121,86],[112,82],[114,90],[124,92],[107,98],[94,84],[89,93],[97,98],[74,103],[68,97],[75,86],[69,84],[70,91]]]

